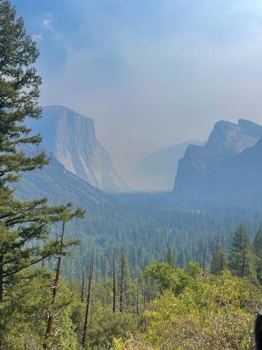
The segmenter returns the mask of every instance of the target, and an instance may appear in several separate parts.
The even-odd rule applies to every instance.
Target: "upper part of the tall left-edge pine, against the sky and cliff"
[[[24,21],[16,18],[10,1],[0,1],[0,188],[19,179],[20,172],[41,169],[48,161],[41,153],[27,157],[17,146],[39,144],[41,136],[31,136],[25,118],[38,119],[41,77],[34,64],[36,42],[26,34]]]

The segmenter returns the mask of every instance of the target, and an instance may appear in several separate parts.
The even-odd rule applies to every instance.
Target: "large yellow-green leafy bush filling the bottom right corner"
[[[145,332],[127,342],[116,339],[115,349],[253,349],[261,307],[261,288],[245,279],[228,271],[199,277],[178,296],[165,290],[145,311]]]

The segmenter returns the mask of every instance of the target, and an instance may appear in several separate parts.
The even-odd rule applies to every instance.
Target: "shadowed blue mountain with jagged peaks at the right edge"
[[[205,146],[189,145],[173,193],[178,200],[239,197],[262,189],[262,127],[221,120]]]

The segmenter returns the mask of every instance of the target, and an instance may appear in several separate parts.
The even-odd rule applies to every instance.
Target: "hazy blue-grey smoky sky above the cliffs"
[[[11,2],[41,50],[41,103],[94,118],[120,174],[217,120],[262,123],[261,0]]]

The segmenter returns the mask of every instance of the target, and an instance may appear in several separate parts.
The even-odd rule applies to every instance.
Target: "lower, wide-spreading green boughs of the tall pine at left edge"
[[[44,246],[38,243],[48,236],[48,225],[83,215],[80,209],[72,212],[72,204],[48,207],[46,200],[20,202],[8,197],[4,203],[0,204],[0,302],[3,286],[14,274],[57,252],[56,240]]]

